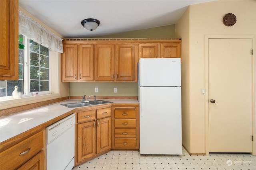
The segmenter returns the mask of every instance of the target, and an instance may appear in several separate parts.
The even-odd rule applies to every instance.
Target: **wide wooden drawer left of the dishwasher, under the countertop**
[[[14,169],[26,162],[44,147],[43,132],[17,143],[0,153],[0,167],[3,170]]]

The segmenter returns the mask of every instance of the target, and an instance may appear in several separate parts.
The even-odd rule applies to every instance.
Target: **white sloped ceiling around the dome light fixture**
[[[175,24],[186,8],[214,0],[19,0],[19,6],[64,38],[89,38]],[[81,25],[95,18],[88,31]]]

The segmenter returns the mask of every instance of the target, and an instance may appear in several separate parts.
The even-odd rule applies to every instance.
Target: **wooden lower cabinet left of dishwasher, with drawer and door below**
[[[0,170],[44,170],[45,130],[0,152]]]

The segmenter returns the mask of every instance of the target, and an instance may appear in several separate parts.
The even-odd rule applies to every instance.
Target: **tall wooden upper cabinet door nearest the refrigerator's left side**
[[[116,80],[135,80],[134,44],[116,45]]]

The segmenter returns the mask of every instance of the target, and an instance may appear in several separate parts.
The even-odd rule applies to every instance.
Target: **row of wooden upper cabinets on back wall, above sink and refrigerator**
[[[134,82],[140,58],[180,58],[181,40],[63,41],[63,82]]]

